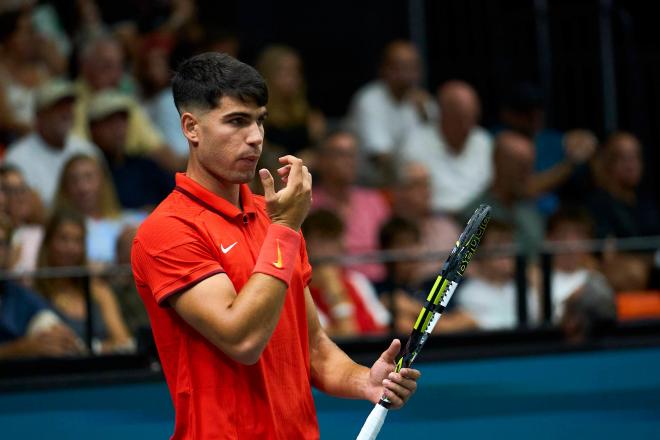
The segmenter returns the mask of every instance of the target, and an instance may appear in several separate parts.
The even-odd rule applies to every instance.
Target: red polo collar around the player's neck
[[[179,191],[195,203],[198,203],[217,214],[234,219],[242,219],[245,214],[251,216],[256,214],[252,191],[250,191],[250,187],[244,183],[241,184],[239,190],[239,197],[243,205],[243,211],[241,211],[226,199],[214,194],[192,180],[190,177],[186,176],[185,173],[176,173],[175,179],[175,191]]]

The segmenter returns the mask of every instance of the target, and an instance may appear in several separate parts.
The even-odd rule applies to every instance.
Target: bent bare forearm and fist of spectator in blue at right
[[[566,182],[576,166],[586,163],[593,157],[598,139],[591,131],[575,129],[564,134],[563,144],[565,159],[533,175],[529,186],[530,197],[553,191]]]

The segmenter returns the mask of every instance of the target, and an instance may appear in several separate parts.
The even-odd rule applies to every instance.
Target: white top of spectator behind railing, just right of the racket
[[[516,285],[513,281],[497,285],[477,277],[466,279],[456,292],[459,307],[484,330],[513,329],[518,325]],[[538,300],[527,288],[527,322],[538,322]]]

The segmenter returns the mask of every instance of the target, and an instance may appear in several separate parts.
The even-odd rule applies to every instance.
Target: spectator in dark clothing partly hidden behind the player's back
[[[117,296],[121,314],[129,331],[134,335],[149,327],[149,316],[135,286],[133,272],[130,270],[131,246],[136,233],[136,226],[126,225],[117,237],[115,262],[128,270],[110,277],[110,286]]]

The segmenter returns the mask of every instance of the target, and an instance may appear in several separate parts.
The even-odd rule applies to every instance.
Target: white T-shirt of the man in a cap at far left
[[[18,167],[27,184],[37,191],[46,207],[50,207],[62,168],[77,153],[100,157],[93,144],[78,137],[70,135],[64,148],[58,150],[46,144],[37,133],[31,133],[9,146],[5,162]]]

